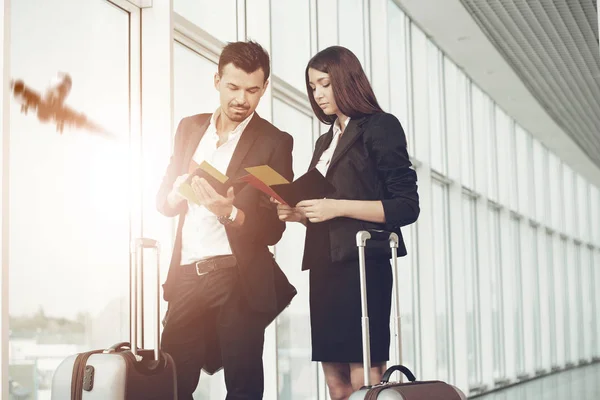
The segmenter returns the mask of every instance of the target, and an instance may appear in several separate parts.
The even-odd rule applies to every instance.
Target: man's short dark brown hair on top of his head
[[[249,74],[261,68],[266,82],[271,73],[269,62],[269,53],[260,44],[254,41],[230,42],[223,48],[219,57],[219,75],[223,75],[223,68],[232,63]]]

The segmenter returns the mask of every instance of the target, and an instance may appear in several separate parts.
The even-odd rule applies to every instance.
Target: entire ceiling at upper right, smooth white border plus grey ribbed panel
[[[394,0],[520,126],[600,187],[596,0]]]

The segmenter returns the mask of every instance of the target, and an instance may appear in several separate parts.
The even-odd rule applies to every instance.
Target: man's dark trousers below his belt
[[[203,276],[179,274],[178,278],[162,348],[175,361],[179,400],[192,400],[207,348],[214,350],[215,344],[207,341],[207,329],[216,329],[219,338],[226,400],[262,399],[264,318],[245,305],[237,268]]]

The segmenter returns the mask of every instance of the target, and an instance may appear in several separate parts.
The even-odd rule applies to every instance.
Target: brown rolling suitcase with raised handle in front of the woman
[[[359,268],[360,268],[360,297],[362,308],[362,336],[363,336],[363,365],[365,385],[354,392],[349,400],[464,400],[464,393],[447,383],[441,381],[417,381],[412,372],[403,365],[394,365],[385,371],[381,382],[371,385],[369,370],[371,369],[371,349],[369,346],[369,315],[367,311],[367,283],[365,267],[365,246],[369,239],[377,241],[388,241],[392,250],[392,268],[395,281],[398,277],[398,235],[395,233],[368,230],[356,234],[356,245],[358,246]],[[396,329],[396,357],[402,362],[402,341],[400,338],[400,308],[398,294],[393,290],[393,309],[395,313]],[[409,383],[389,382],[391,375],[402,372]]]

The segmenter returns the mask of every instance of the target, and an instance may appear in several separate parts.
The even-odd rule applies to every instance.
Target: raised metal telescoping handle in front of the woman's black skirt
[[[369,334],[369,311],[367,307],[367,274],[365,266],[365,246],[368,240],[387,241],[392,251],[392,272],[394,282],[398,282],[398,235],[394,232],[382,230],[364,230],[356,234],[358,246],[358,261],[360,268],[360,300],[362,309],[362,342],[363,342],[363,367],[365,386],[371,386],[371,339]],[[397,291],[392,288],[392,307],[394,312],[394,327],[396,329],[396,360],[402,363],[402,340],[400,337],[400,307]]]

